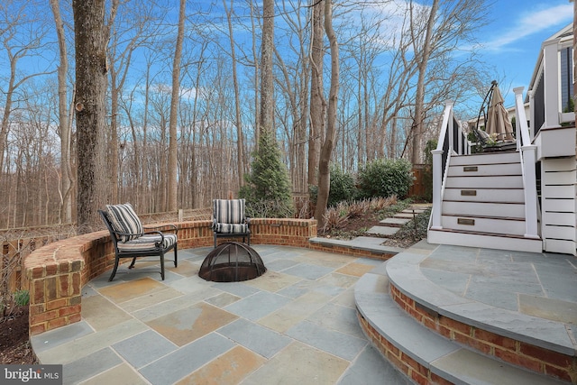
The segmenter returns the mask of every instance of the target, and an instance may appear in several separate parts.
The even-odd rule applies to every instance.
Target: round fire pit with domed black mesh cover
[[[251,246],[229,242],[206,255],[198,276],[215,282],[240,282],[260,277],[266,270],[261,256]]]

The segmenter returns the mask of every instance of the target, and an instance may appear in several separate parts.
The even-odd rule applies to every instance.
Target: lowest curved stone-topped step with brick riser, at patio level
[[[364,274],[357,281],[354,289],[355,304],[364,322],[379,335],[376,341],[371,340],[373,344],[382,344],[377,346],[381,352],[383,349],[389,350],[382,353],[385,357],[392,357],[390,361],[400,365],[398,369],[405,374],[410,373],[412,380],[419,382],[418,380],[433,377],[427,372],[419,373],[420,370],[430,371],[444,380],[457,384],[563,383],[473,352],[419,324],[389,296],[386,263]],[[361,322],[363,324],[363,321]],[[371,339],[371,333],[364,330],[364,325],[362,326],[364,333]],[[398,349],[398,352],[395,349]],[[421,367],[408,370],[407,365],[410,365],[411,360]],[[404,365],[404,362],[409,363]]]

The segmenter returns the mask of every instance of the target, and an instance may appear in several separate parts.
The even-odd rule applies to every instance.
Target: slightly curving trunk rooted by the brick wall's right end
[[[318,162],[318,197],[316,199],[315,217],[319,227],[325,225],[325,210],[331,185],[330,162],[334,149],[336,133],[336,113],[339,94],[339,45],[333,29],[333,2],[325,0],[325,32],[331,48],[331,87],[326,111],[325,142]]]

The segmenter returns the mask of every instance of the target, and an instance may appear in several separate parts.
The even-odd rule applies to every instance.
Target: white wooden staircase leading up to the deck
[[[428,242],[542,252],[526,236],[525,195],[517,151],[453,155],[444,187],[441,228]]]

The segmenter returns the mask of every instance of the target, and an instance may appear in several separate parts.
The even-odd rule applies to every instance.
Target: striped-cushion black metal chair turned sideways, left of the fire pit
[[[164,254],[174,250],[174,267],[178,266],[178,237],[176,225],[144,227],[130,204],[107,205],[106,210],[98,210],[110,238],[114,244],[114,269],[109,281],[114,279],[121,258],[132,258],[129,269],[133,269],[138,257],[160,257],[160,277],[164,280]],[[170,227],[165,234],[160,228]]]

